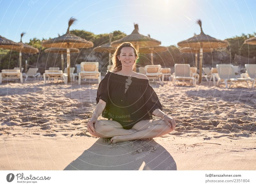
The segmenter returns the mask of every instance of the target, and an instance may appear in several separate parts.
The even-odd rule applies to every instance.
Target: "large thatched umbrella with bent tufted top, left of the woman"
[[[68,68],[68,82],[70,82],[70,48],[90,48],[93,47],[91,41],[87,41],[69,33],[70,26],[76,21],[74,18],[70,18],[68,21],[68,30],[67,33],[53,38],[47,41],[44,41],[42,46],[47,48],[57,47],[57,48],[67,48],[67,68]]]

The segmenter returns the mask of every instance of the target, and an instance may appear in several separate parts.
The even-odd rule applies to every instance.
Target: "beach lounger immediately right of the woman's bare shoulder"
[[[144,67],[144,70],[146,72],[146,76],[148,79],[153,79],[153,81],[156,79],[160,81],[160,84],[163,85],[164,83],[164,74],[160,72],[161,70],[161,65],[146,65]]]

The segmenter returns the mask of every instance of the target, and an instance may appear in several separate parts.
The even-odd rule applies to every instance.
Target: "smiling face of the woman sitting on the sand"
[[[120,56],[117,56],[124,66],[132,66],[135,62],[134,50],[131,47],[124,47],[121,49]]]

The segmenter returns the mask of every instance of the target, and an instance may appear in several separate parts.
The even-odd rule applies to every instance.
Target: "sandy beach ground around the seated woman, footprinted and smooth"
[[[0,85],[1,170],[255,170],[256,91],[150,82],[176,130],[111,144],[86,127],[98,84]],[[157,117],[155,117],[157,119]],[[103,119],[101,116],[99,119]]]

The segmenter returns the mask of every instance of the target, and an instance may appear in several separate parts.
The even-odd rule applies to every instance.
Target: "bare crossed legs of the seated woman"
[[[116,121],[99,120],[95,132],[88,127],[90,134],[100,138],[111,138],[112,143],[134,139],[156,138],[173,131],[163,119],[142,120],[136,123],[132,129],[125,130]]]

